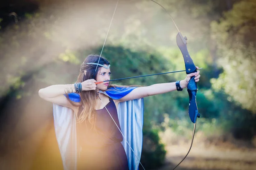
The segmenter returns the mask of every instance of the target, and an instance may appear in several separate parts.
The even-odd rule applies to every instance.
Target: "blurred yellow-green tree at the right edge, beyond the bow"
[[[217,42],[218,64],[224,72],[212,79],[215,89],[224,91],[243,108],[256,113],[256,1],[243,0],[212,22]],[[231,99],[231,98],[230,98]]]

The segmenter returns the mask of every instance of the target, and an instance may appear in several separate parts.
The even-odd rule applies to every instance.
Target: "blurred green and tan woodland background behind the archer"
[[[195,65],[201,113],[180,170],[256,169],[256,0],[157,0],[172,14]],[[0,3],[0,169],[61,170],[52,104],[38,90],[76,81],[100,54],[116,0],[9,0]],[[112,79],[184,70],[169,15],[150,0],[119,0],[102,56]],[[184,72],[128,79],[152,85]],[[185,156],[193,124],[188,94],[145,98],[145,169],[169,170]]]

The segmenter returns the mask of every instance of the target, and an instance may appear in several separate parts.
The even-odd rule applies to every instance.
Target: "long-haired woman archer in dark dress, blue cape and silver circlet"
[[[197,67],[198,69],[198,67]],[[184,80],[145,87],[120,87],[110,80],[107,59],[89,55],[76,83],[38,91],[53,103],[55,132],[65,170],[137,170],[142,150],[143,98],[186,88]],[[177,85],[176,85],[177,84]]]

